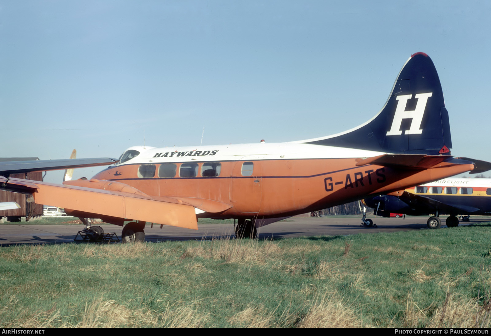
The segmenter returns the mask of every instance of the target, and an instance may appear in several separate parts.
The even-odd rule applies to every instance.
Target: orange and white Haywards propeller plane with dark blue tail
[[[198,217],[237,219],[236,235],[254,237],[256,227],[279,218],[491,168],[452,157],[451,147],[435,66],[416,53],[382,110],[337,135],[285,143],[134,146],[91,179],[0,183],[81,219],[124,226],[125,242],[144,240],[147,223],[197,229]],[[94,234],[100,230],[92,226]]]

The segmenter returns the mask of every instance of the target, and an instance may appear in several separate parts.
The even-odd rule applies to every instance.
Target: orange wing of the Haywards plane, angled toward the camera
[[[87,180],[87,182],[90,181]],[[7,179],[3,176],[0,176],[0,189],[32,195],[37,204],[50,204],[81,213],[100,215],[103,219],[125,219],[198,228],[195,207],[190,204],[191,202],[186,202],[185,198],[160,197],[154,199],[141,192],[135,193],[131,189],[128,189],[128,192],[121,192],[18,178]],[[204,207],[212,208],[213,206],[220,208],[217,204],[210,202]]]

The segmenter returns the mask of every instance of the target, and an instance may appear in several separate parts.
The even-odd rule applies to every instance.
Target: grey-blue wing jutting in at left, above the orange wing
[[[8,176],[9,174],[29,171],[109,166],[115,164],[116,162],[118,162],[118,160],[111,158],[5,161],[0,162],[0,175]]]

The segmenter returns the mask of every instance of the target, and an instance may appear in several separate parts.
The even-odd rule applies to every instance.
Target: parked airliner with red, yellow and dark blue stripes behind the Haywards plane
[[[392,194],[395,195],[373,196],[364,201],[377,216],[389,217],[391,212],[434,215],[427,222],[432,229],[440,227],[439,215],[443,214],[450,215],[445,220],[448,227],[459,225],[457,215],[464,222],[469,221],[469,215],[491,215],[490,178],[445,178]]]

